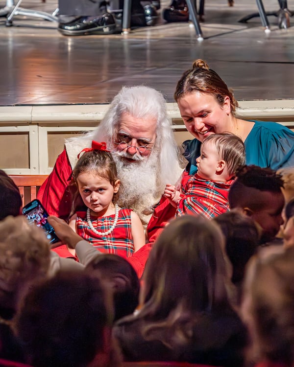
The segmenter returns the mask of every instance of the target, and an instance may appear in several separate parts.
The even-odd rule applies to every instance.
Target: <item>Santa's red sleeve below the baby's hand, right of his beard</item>
[[[166,224],[174,218],[175,212],[176,208],[163,196],[159,205],[155,207],[147,226],[147,237],[149,242],[154,242],[156,240]]]

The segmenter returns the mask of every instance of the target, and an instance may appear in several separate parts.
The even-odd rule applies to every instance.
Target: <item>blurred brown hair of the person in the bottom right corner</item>
[[[294,365],[294,248],[267,248],[247,269],[243,317],[249,323],[251,359]]]

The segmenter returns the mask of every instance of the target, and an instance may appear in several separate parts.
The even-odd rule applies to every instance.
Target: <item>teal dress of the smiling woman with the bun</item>
[[[294,167],[294,132],[276,122],[256,121],[244,144],[246,164],[270,167]],[[201,142],[197,139],[183,142],[184,157],[189,175],[197,171],[196,158],[200,156]]]

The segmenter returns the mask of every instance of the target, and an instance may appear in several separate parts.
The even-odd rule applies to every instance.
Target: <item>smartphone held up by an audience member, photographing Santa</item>
[[[50,243],[60,241],[54,232],[54,228],[48,223],[48,213],[38,199],[31,201],[23,207],[23,214],[30,224],[41,227]]]

